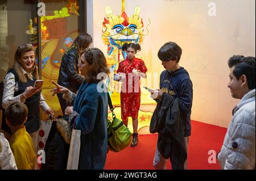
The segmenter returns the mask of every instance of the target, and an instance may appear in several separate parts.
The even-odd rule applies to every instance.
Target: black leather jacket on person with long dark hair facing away
[[[79,55],[77,54],[76,47],[69,48],[62,57],[57,81],[60,86],[66,87],[75,93],[79,89],[79,85],[85,80],[79,74],[78,63]]]

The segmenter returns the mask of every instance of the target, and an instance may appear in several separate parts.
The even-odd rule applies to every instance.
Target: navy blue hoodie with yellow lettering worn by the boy
[[[180,68],[170,72],[164,70],[160,75],[160,89],[175,98],[180,99],[181,118],[186,121],[184,137],[191,136],[191,108],[193,86],[187,70]]]

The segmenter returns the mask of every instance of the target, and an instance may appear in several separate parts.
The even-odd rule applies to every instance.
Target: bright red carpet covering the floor
[[[218,161],[208,163],[209,150],[220,151],[226,128],[191,121],[192,134],[188,145],[189,170],[215,170],[220,169]],[[128,146],[119,153],[109,151],[106,159],[106,170],[152,170],[157,134],[139,136],[139,144],[134,148]],[[167,169],[171,169],[170,160]]]

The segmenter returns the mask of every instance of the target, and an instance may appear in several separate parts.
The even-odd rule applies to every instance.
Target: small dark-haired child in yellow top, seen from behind
[[[19,102],[11,103],[5,110],[6,124],[12,133],[10,147],[19,170],[33,170],[36,164],[34,144],[24,126],[27,115],[26,104]]]

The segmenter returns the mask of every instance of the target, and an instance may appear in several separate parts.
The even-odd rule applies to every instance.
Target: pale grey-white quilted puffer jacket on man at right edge
[[[255,169],[255,89],[234,108],[218,162],[226,170]]]

